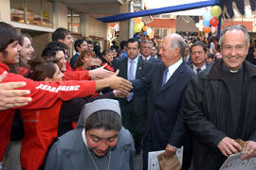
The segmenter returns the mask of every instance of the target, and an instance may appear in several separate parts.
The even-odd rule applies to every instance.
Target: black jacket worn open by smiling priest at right
[[[185,94],[182,114],[192,130],[193,166],[196,170],[217,170],[227,159],[217,144],[226,137],[229,93],[221,75],[222,59],[192,78]],[[244,61],[242,110],[245,114],[238,138],[256,141],[256,67]]]

